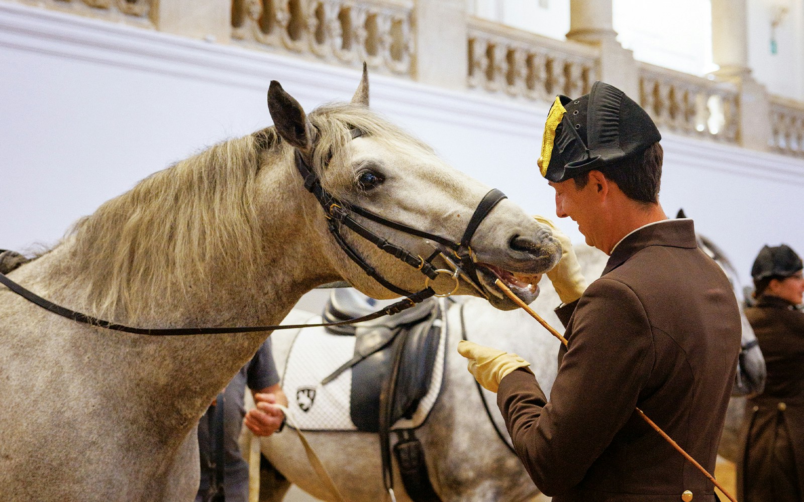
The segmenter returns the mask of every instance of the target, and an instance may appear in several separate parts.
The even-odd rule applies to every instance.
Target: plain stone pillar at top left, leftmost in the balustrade
[[[232,38],[231,0],[156,0],[151,17],[158,31],[228,43]]]

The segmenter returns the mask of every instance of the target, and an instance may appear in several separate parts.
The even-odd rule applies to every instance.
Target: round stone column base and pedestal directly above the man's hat
[[[623,49],[613,28],[612,0],[570,0],[567,38],[600,48],[597,79],[639,102],[639,67],[634,52]],[[573,96],[574,97],[574,96]]]

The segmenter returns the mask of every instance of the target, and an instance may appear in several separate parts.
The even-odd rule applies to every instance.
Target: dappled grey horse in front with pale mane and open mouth
[[[489,191],[371,112],[365,73],[351,104],[309,116],[277,83],[268,98],[275,127],[146,178],[8,277],[56,304],[137,327],[278,324],[303,293],[330,281],[398,296],[338,247],[296,155],[342,201],[456,243]],[[433,251],[420,237],[355,218],[416,253]],[[390,284],[424,288],[416,267],[346,231],[344,239]],[[556,243],[513,202],[499,202],[471,240],[486,263],[480,286],[461,279],[457,293],[514,308],[487,286],[492,267],[516,283],[509,272],[551,267]],[[434,288],[453,287],[441,279]],[[0,500],[193,500],[195,426],[269,334],[117,333],[0,288]]]

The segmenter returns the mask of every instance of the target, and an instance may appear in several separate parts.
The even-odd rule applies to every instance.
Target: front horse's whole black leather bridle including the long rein
[[[363,131],[357,128],[352,128],[350,130],[351,138],[355,139],[356,137],[363,136]],[[478,290],[480,294],[486,296],[482,285],[478,279],[477,269],[474,263],[474,253],[470,247],[470,241],[474,236],[474,232],[477,231],[480,223],[482,222],[483,218],[486,218],[486,215],[494,209],[494,206],[498,204],[503,198],[506,198],[506,195],[503,194],[500,190],[492,189],[490,190],[480,201],[477,208],[474,210],[474,214],[472,214],[472,218],[470,218],[469,223],[466,226],[466,231],[464,231],[463,236],[461,237],[461,242],[454,243],[449,239],[445,239],[439,235],[430,234],[429,232],[420,231],[413,227],[408,227],[404,223],[395,222],[389,220],[387,218],[383,218],[379,216],[379,214],[374,214],[369,210],[363,209],[360,206],[353,206],[351,204],[347,204],[346,202],[340,201],[338,198],[335,198],[332,194],[330,194],[324,187],[322,186],[320,178],[318,178],[318,174],[315,173],[314,169],[310,167],[308,161],[306,161],[305,156],[301,153],[299,149],[295,149],[294,151],[294,158],[296,162],[296,168],[298,169],[299,173],[301,174],[301,178],[304,179],[304,186],[307,190],[310,191],[311,194],[314,194],[315,198],[318,199],[318,202],[321,204],[325,216],[327,218],[327,226],[329,227],[330,234],[334,237],[335,242],[338,243],[338,246],[343,249],[343,251],[349,256],[349,258],[357,263],[359,267],[363,269],[370,275],[374,280],[382,284],[385,288],[388,288],[392,292],[396,292],[399,295],[405,296],[404,299],[397,301],[394,304],[388,305],[388,307],[383,308],[377,312],[373,312],[366,316],[357,317],[355,319],[349,320],[341,320],[337,322],[330,322],[330,323],[319,323],[319,324],[279,324],[279,325],[272,325],[272,326],[238,326],[238,327],[220,327],[220,328],[168,328],[168,329],[161,329],[161,328],[136,328],[132,326],[127,326],[125,324],[117,324],[113,323],[109,320],[102,320],[98,319],[93,316],[88,316],[82,312],[76,312],[69,308],[64,308],[59,304],[54,304],[53,302],[42,298],[41,296],[36,295],[34,292],[31,292],[27,288],[24,288],[20,284],[15,283],[13,280],[10,280],[5,274],[0,272],[0,284],[4,284],[7,288],[9,288],[12,292],[17,293],[19,296],[23,296],[26,300],[30,301],[31,303],[39,305],[39,307],[45,308],[49,312],[53,312],[59,316],[66,317],[71,320],[75,320],[76,322],[84,323],[84,324],[91,324],[93,326],[98,326],[100,328],[105,329],[112,329],[114,331],[121,331],[125,333],[135,333],[135,334],[142,334],[142,335],[150,335],[150,336],[186,336],[186,335],[203,335],[203,334],[219,334],[219,333],[255,333],[260,331],[274,331],[277,329],[301,329],[301,328],[309,328],[309,327],[316,327],[316,326],[338,326],[342,324],[355,324],[358,322],[363,322],[366,320],[376,319],[381,316],[389,316],[396,314],[405,310],[406,308],[411,308],[413,305],[420,303],[422,300],[429,298],[430,296],[450,296],[454,292],[457,291],[459,286],[459,277],[464,277],[469,284],[471,284],[475,289]],[[388,239],[384,239],[379,235],[376,235],[374,232],[368,230],[366,227],[363,227],[359,222],[355,220],[355,218],[351,215],[351,213],[358,214],[363,218],[367,218],[371,221],[377,222],[385,227],[392,228],[396,231],[402,231],[406,234],[416,235],[417,237],[421,237],[422,239],[426,239],[428,242],[436,243],[431,246],[435,248],[433,254],[429,255],[428,258],[424,259],[420,255],[414,255],[410,251],[406,250],[404,247],[396,246],[390,242]],[[343,235],[340,233],[340,227],[345,226],[349,228],[351,231],[354,231],[356,234],[363,237],[363,239],[368,240],[369,242],[375,244],[376,247],[379,249],[395,256],[397,259],[404,261],[404,263],[408,263],[411,267],[414,267],[421,271],[425,275],[425,288],[421,289],[418,292],[408,292],[403,288],[392,284],[390,281],[386,280],[382,275],[379,274],[378,271],[375,270],[374,267],[371,267],[369,263],[362,256],[359,255],[359,252],[355,250],[349,243],[347,243],[346,239],[343,238]],[[453,257],[449,257],[445,255],[446,250],[449,250]],[[0,250],[2,253],[4,250]],[[436,259],[437,256],[441,255],[443,259],[445,259],[446,263],[449,264],[450,267],[453,267],[453,270],[448,270],[445,268],[437,268],[433,265],[433,259]],[[456,261],[457,260],[457,263]],[[445,293],[445,294],[438,294],[433,288],[430,287],[429,283],[431,280],[435,280],[438,275],[441,274],[449,274],[453,280],[455,281],[455,288],[452,292]]]

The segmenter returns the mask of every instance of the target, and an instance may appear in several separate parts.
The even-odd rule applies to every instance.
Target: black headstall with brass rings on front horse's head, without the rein
[[[356,128],[351,129],[350,133],[352,139],[363,136],[363,131]],[[321,204],[324,210],[324,214],[327,218],[327,227],[329,227],[330,234],[334,237],[335,242],[338,243],[338,246],[343,249],[343,251],[353,262],[362,268],[367,275],[370,275],[374,280],[379,282],[379,284],[382,284],[384,288],[387,288],[398,295],[407,296],[408,299],[413,300],[414,303],[418,303],[421,300],[425,300],[425,298],[429,298],[430,296],[449,296],[453,294],[458,288],[458,275],[462,275],[470,284],[472,284],[472,286],[474,286],[474,288],[478,290],[478,292],[485,296],[482,284],[480,284],[480,280],[478,279],[478,272],[474,262],[474,253],[470,247],[470,241],[474,236],[474,232],[478,230],[483,218],[486,218],[486,215],[489,214],[492,209],[494,209],[494,206],[497,206],[498,202],[502,201],[503,198],[506,198],[506,195],[503,194],[503,192],[497,189],[492,189],[482,198],[477,208],[475,208],[472,218],[470,218],[469,223],[466,225],[466,231],[464,231],[464,234],[461,237],[461,242],[455,243],[450,239],[441,237],[440,235],[420,231],[416,228],[408,227],[408,225],[405,225],[404,223],[395,222],[388,218],[384,218],[379,214],[375,214],[370,210],[364,209],[363,207],[341,202],[338,200],[338,198],[335,198],[332,194],[327,192],[326,189],[324,189],[321,184],[321,179],[318,178],[318,174],[316,174],[313,168],[310,167],[310,164],[306,161],[305,156],[302,155],[301,151],[298,149],[295,151],[295,159],[296,169],[298,169],[298,172],[301,174],[301,178],[304,178],[305,188],[315,196],[315,198],[318,200],[318,203]],[[433,254],[429,255],[429,257],[426,259],[422,258],[420,255],[414,255],[404,247],[396,246],[395,244],[388,242],[388,239],[384,239],[383,237],[380,237],[374,232],[368,230],[366,227],[363,227],[363,225],[352,217],[352,213],[373,222],[377,222],[384,227],[389,227],[396,231],[404,232],[405,234],[416,235],[416,237],[421,237],[422,239],[426,239],[426,241],[437,243],[440,245],[440,247],[434,246],[435,251],[433,251]],[[392,255],[396,259],[400,259],[404,261],[404,263],[408,263],[408,265],[411,267],[421,271],[421,273],[427,277],[427,279],[425,279],[425,288],[419,292],[412,293],[404,290],[403,288],[399,288],[390,281],[386,280],[382,275],[379,274],[378,271],[376,271],[374,267],[371,267],[371,265],[367,263],[367,261],[363,259],[361,255],[359,255],[354,247],[351,247],[351,245],[347,243],[346,239],[343,238],[343,235],[341,234],[341,227],[343,226],[349,228],[351,231],[354,231],[357,235],[360,235],[363,237],[363,239],[373,243],[376,247],[379,247],[379,249],[387,252],[389,255]],[[449,251],[453,253],[454,258],[457,259],[457,263],[454,263],[452,259],[444,254],[443,251],[446,249],[449,249]],[[445,268],[437,268],[434,266],[433,259],[435,259],[438,255],[443,256],[445,261],[449,263],[454,270],[447,270]],[[429,287],[430,280],[435,280],[440,274],[449,274],[453,277],[453,280],[455,281],[455,288],[452,292],[440,295],[437,294],[433,288]]]

